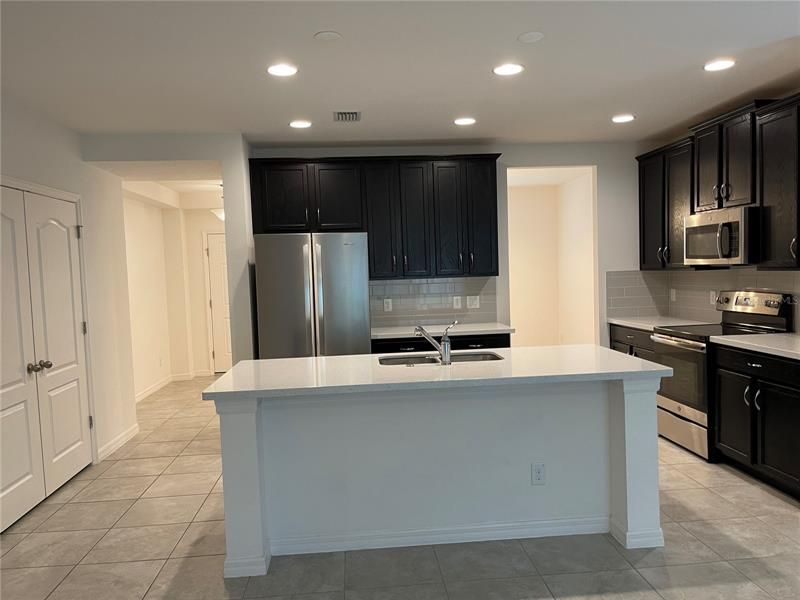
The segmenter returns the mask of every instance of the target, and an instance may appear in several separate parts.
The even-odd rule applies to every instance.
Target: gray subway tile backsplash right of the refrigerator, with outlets
[[[495,277],[374,280],[369,282],[369,296],[373,327],[437,325],[454,319],[460,323],[497,320]],[[453,296],[461,298],[461,308],[453,307]],[[480,307],[467,308],[467,296],[478,296]],[[385,298],[392,300],[391,312],[383,310]]]

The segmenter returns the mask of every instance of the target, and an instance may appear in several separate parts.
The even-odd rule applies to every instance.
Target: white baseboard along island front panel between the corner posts
[[[343,550],[367,550],[401,546],[427,546],[457,542],[483,542],[555,535],[607,533],[608,517],[578,517],[546,521],[491,523],[444,529],[416,529],[408,531],[370,531],[365,533],[321,535],[297,538],[270,538],[273,556],[283,554],[309,554]],[[663,545],[663,542],[662,542]],[[226,563],[227,564],[227,563]],[[227,567],[225,571],[228,576]]]

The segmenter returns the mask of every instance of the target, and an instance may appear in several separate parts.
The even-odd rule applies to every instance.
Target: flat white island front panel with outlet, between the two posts
[[[275,555],[609,531],[605,381],[270,399],[262,420]]]

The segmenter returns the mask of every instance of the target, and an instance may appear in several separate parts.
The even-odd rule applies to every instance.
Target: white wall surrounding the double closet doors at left
[[[2,95],[0,173],[81,197],[89,380],[100,456],[136,434],[122,182],[81,161],[77,134]]]

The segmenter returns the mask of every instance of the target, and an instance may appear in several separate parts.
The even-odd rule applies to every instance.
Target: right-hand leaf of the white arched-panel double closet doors
[[[48,494],[92,460],[77,207],[25,192],[33,339]]]

